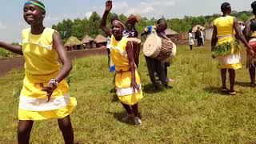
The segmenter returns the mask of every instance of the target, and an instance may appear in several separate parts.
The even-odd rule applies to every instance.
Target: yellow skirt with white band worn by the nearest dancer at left
[[[42,86],[47,83],[32,83],[25,78],[19,100],[19,120],[44,120],[48,118],[64,118],[74,111],[77,101],[68,95],[69,86],[66,80],[58,84],[47,102],[46,92]]]

